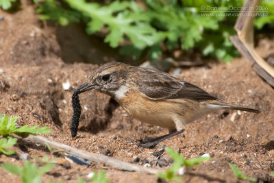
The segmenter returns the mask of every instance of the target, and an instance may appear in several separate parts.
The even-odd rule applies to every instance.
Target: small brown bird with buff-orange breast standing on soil
[[[169,129],[169,134],[136,143],[154,147],[171,136],[184,132],[184,125],[203,114],[219,109],[259,110],[221,101],[198,86],[183,82],[167,73],[110,62],[88,77],[89,82],[79,88],[100,90],[115,99],[132,117],[139,121]]]

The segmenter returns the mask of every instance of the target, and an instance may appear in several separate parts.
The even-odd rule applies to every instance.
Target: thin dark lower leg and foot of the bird
[[[142,142],[142,143],[137,143],[135,141],[133,141],[132,139],[129,139],[130,142],[135,143],[136,145],[140,146],[140,147],[155,147],[156,145],[158,145],[158,143],[166,140],[167,138],[171,138],[173,136],[176,136],[177,134],[181,134],[182,132],[184,132],[183,130],[179,130],[170,134],[166,134],[163,136],[158,136],[155,138],[151,138],[148,141]]]

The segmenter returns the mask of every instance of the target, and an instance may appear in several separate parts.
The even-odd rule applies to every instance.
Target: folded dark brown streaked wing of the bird
[[[216,100],[194,84],[182,82],[171,75],[149,75],[138,82],[138,89],[146,97],[153,100],[161,99],[192,99],[195,101]]]

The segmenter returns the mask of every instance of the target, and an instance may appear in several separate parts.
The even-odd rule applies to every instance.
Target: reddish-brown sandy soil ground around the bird
[[[87,75],[97,66],[64,62],[66,52],[60,44],[60,28],[48,27],[47,23],[38,21],[32,5],[23,3],[22,6],[22,10],[12,14],[0,10],[4,17],[0,21],[0,112],[17,115],[18,125],[47,125],[53,130],[45,135],[47,138],[78,149],[142,166],[149,163],[158,169],[169,167],[171,158],[166,152],[153,156],[154,152],[162,149],[137,147],[127,141],[128,138],[142,141],[168,131],[132,119],[123,108],[116,107],[110,97],[97,91],[80,95],[83,111],[79,132],[76,140],[71,138],[71,95],[75,88],[86,82]],[[71,42],[73,44],[75,42]],[[262,38],[257,51],[264,58],[273,54],[273,38]],[[102,58],[100,51],[94,54],[95,58],[105,62],[121,61],[119,57]],[[75,61],[80,61],[76,58]],[[273,182],[274,178],[270,175],[274,171],[273,88],[251,69],[244,58],[237,58],[229,64],[182,69],[175,77],[196,84],[229,103],[262,111],[260,114],[232,110],[211,113],[186,125],[184,134],[160,143],[160,147],[172,147],[185,158],[195,158],[204,153],[212,157],[208,162],[187,169],[182,182],[238,182],[229,162],[260,182]],[[64,90],[64,83],[70,84],[68,90]],[[47,148],[29,144],[21,138],[14,150],[14,156],[2,154],[0,164],[23,164],[18,156],[24,153],[29,154],[32,162],[35,162],[34,156],[56,158]],[[57,156],[64,159],[62,153]],[[133,162],[137,157],[140,162]],[[89,167],[70,166],[66,169],[56,165],[53,171],[43,176],[43,182],[88,180],[88,173],[101,169],[106,171],[111,182],[158,182],[157,175],[119,171],[95,162],[91,162]],[[1,167],[0,177],[0,182],[18,182],[16,175]]]

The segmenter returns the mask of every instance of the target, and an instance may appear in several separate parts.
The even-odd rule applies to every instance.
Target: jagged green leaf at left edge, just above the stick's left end
[[[0,135],[8,136],[12,133],[23,135],[23,134],[49,134],[52,131],[49,130],[48,127],[39,127],[39,125],[34,125],[33,127],[29,127],[29,125],[24,125],[23,127],[16,127],[16,120],[18,117],[10,117],[8,119],[8,115],[4,114],[3,117],[0,114]]]

